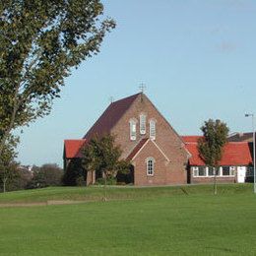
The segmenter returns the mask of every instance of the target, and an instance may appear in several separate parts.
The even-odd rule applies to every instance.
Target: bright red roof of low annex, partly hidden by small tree
[[[205,165],[200,158],[197,143],[187,143],[186,149],[190,152],[190,165]],[[252,163],[249,144],[246,142],[229,142],[224,146],[223,159],[220,165],[248,165]]]

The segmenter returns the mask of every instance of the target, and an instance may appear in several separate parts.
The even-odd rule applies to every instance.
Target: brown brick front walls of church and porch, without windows
[[[140,134],[140,114],[145,114],[147,117],[147,132],[145,135]],[[136,118],[137,123],[137,140],[130,140],[130,126],[129,121]],[[132,152],[135,146],[142,138],[149,138],[149,122],[151,119],[156,121],[156,143],[160,146],[162,152],[170,160],[166,164],[166,160],[160,154],[158,149],[153,145],[147,146],[140,156],[140,160],[135,162],[135,184],[149,185],[149,184],[183,184],[187,183],[186,163],[188,154],[185,151],[184,145],[176,132],[152,104],[147,96],[138,98],[134,101],[132,106],[125,112],[122,118],[112,129],[111,133],[116,136],[115,142],[121,146],[123,150],[122,158],[125,159]],[[160,172],[156,172],[156,177],[147,177],[145,160],[148,157],[158,159],[156,161],[156,168]]]

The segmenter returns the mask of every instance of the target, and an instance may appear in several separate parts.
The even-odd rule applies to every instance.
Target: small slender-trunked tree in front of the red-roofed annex
[[[224,145],[229,129],[221,120],[209,119],[201,127],[203,138],[198,141],[200,157],[205,163],[214,168],[214,193],[217,194],[217,174],[219,162],[223,158]]]

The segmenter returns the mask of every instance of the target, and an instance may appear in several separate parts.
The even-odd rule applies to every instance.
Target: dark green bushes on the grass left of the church
[[[45,163],[41,167],[32,167],[33,177],[28,188],[42,188],[61,185],[63,170],[55,163]]]

